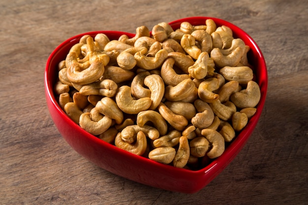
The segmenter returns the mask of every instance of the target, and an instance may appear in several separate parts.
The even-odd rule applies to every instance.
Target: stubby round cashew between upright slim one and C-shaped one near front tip
[[[196,137],[189,142],[190,154],[194,157],[203,157],[209,150],[210,143],[203,137]]]

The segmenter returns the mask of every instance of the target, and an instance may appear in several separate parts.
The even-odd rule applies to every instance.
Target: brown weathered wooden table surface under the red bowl
[[[221,18],[244,29],[263,52],[269,85],[246,146],[208,186],[188,195],[115,176],[76,153],[49,115],[43,77],[51,52],[71,36],[135,32],[189,16]],[[0,204],[307,203],[306,0],[5,0],[0,19]]]

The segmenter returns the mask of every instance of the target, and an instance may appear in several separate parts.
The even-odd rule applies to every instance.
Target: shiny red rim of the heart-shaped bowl
[[[132,153],[127,152],[123,149],[120,149],[120,148],[118,148],[114,145],[111,145],[107,142],[104,142],[103,140],[100,140],[96,136],[86,132],[79,125],[74,123],[64,113],[64,111],[61,109],[60,105],[58,104],[56,97],[55,97],[55,94],[53,92],[52,82],[49,79],[50,72],[51,72],[49,66],[51,64],[51,61],[55,58],[55,56],[63,49],[63,46],[65,46],[66,44],[68,44],[72,41],[75,41],[76,39],[80,39],[85,34],[89,34],[91,36],[93,36],[94,34],[97,34],[97,33],[105,33],[107,36],[108,36],[108,34],[109,35],[110,34],[117,34],[117,35],[118,34],[126,34],[129,37],[133,37],[135,35],[133,33],[123,32],[123,31],[115,31],[115,30],[89,31],[89,32],[77,34],[77,35],[72,36],[72,37],[66,39],[65,41],[63,41],[59,46],[56,47],[56,49],[50,54],[49,58],[47,59],[45,74],[44,74],[44,85],[45,85],[46,97],[50,98],[50,100],[52,101],[52,103],[55,106],[55,108],[57,109],[57,111],[61,113],[62,117],[64,117],[65,121],[67,121],[73,128],[76,128],[78,131],[80,131],[85,137],[89,138],[90,140],[94,141],[95,143],[98,143],[98,145],[100,145],[100,146],[106,146],[110,149],[114,149],[115,151],[119,152],[120,154],[126,155],[127,157],[132,158],[132,159],[138,159],[145,164],[149,164],[151,166],[155,165],[155,166],[158,167],[158,169],[162,169],[166,172],[174,172],[175,170],[177,170],[177,172],[179,174],[213,173],[215,175],[215,173],[218,172],[220,169],[224,169],[224,167],[228,166],[228,164],[234,159],[234,157],[238,154],[238,152],[240,152],[242,147],[245,145],[245,142],[248,140],[249,136],[251,135],[253,128],[256,126],[258,119],[261,116],[261,112],[263,110],[264,103],[265,103],[265,98],[266,98],[266,93],[267,93],[268,77],[267,77],[266,62],[265,62],[265,59],[263,57],[263,54],[262,54],[260,48],[258,47],[256,42],[244,30],[240,29],[239,27],[235,26],[234,24],[232,24],[228,21],[222,20],[222,19],[214,18],[214,17],[195,16],[195,17],[187,17],[187,18],[182,18],[182,19],[172,21],[172,22],[169,23],[169,25],[173,25],[175,27],[175,25],[178,25],[180,22],[183,22],[183,21],[193,22],[193,21],[199,21],[200,19],[204,19],[204,20],[213,19],[214,22],[216,22],[216,24],[217,24],[217,22],[219,22],[219,24],[230,27],[233,31],[235,31],[237,33],[237,35],[240,34],[240,36],[245,36],[245,39],[249,40],[249,42],[253,45],[254,49],[256,50],[256,52],[258,54],[258,59],[260,58],[261,65],[259,65],[259,67],[262,66],[265,69],[263,81],[262,81],[263,90],[262,90],[262,93],[261,93],[261,99],[260,99],[259,104],[256,106],[257,110],[260,110],[260,111],[259,112],[257,111],[256,114],[253,117],[251,117],[251,119],[248,121],[248,124],[246,125],[246,127],[248,127],[248,128],[252,127],[252,130],[247,130],[246,127],[245,127],[241,131],[241,133],[239,135],[237,135],[237,137],[232,141],[232,143],[230,143],[230,145],[228,145],[226,147],[226,149],[224,150],[222,155],[217,157],[216,159],[214,159],[212,162],[210,162],[204,168],[201,168],[201,169],[198,169],[198,170],[176,168],[176,167],[173,167],[173,166],[170,166],[170,165],[155,162],[154,160],[148,159],[148,158],[143,157],[143,156],[138,156],[138,155],[132,154]],[[237,142],[237,143],[234,143],[234,142]]]

